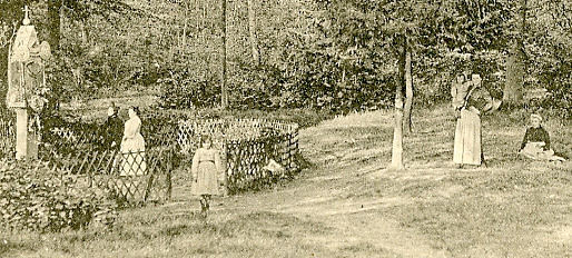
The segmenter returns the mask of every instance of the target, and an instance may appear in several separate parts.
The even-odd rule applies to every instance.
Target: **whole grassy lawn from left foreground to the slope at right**
[[[296,180],[216,198],[206,221],[178,171],[171,202],[124,210],[111,229],[0,232],[0,257],[570,257],[572,162],[516,157],[526,121],[484,117],[489,166],[457,169],[452,115],[416,110],[394,171],[391,113],[327,120],[300,131],[310,166]],[[544,125],[572,153],[568,122]]]

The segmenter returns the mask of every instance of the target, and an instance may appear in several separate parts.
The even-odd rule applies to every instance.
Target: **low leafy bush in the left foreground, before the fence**
[[[0,221],[11,230],[61,231],[111,226],[117,204],[83,178],[43,161],[0,161]]]

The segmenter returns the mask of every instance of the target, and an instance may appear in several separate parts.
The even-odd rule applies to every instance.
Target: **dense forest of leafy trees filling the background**
[[[544,107],[563,117],[572,110],[568,1],[248,0],[226,1],[225,9],[204,0],[0,3],[4,60],[24,4],[40,40],[50,42],[53,108],[129,91],[156,95],[165,108],[217,107],[223,88],[233,109],[383,109],[393,106],[396,89],[408,100],[415,92],[415,103],[426,107],[448,101],[451,81],[471,67],[507,109]],[[534,92],[540,101],[531,100]]]

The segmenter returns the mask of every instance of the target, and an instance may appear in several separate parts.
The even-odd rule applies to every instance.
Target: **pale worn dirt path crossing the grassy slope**
[[[386,171],[384,162],[369,161],[388,151],[389,142],[376,142],[364,148],[359,135],[332,133],[336,127],[383,127],[389,116],[381,112],[354,115],[327,121],[300,132],[300,150],[316,167],[305,170],[295,182],[274,191],[228,197],[223,209],[237,211],[272,211],[287,214],[309,221],[319,221],[335,228],[342,236],[309,237],[308,241],[339,248],[368,245],[387,250],[395,257],[450,257],[446,250],[434,249],[415,229],[400,226],[381,216],[377,209],[411,204],[400,197],[368,198],[353,195],[352,186],[367,183],[372,177],[412,177],[410,173]],[[386,125],[385,125],[386,126]],[[365,161],[364,161],[365,160]],[[440,177],[435,171],[431,177]]]

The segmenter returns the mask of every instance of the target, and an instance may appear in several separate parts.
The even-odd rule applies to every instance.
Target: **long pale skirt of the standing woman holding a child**
[[[461,110],[456,122],[453,162],[481,165],[481,118],[477,113]]]

